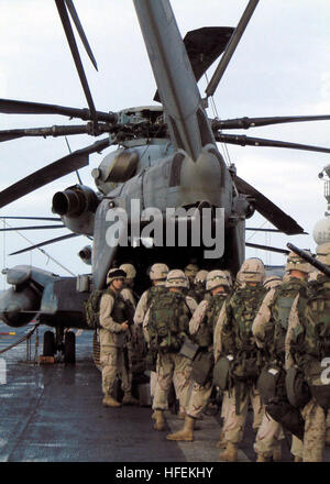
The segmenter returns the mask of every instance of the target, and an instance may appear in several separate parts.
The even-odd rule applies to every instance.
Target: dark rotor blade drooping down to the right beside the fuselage
[[[252,205],[255,207],[255,209],[263,217],[265,217],[265,219],[273,223],[273,226],[275,226],[280,232],[284,232],[287,235],[304,233],[304,229],[268,198],[266,198],[238,175],[232,176],[239,193],[251,196],[253,198]]]

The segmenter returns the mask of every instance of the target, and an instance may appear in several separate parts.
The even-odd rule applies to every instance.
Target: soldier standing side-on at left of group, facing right
[[[122,273],[122,271],[119,270],[111,271],[114,275]],[[109,274],[111,271],[109,271]],[[121,277],[123,278],[123,276]],[[108,284],[109,283],[110,279],[108,275]],[[116,320],[116,318],[120,319],[120,321]],[[125,330],[122,326],[124,321],[124,300],[114,290],[108,289],[100,300],[100,364],[102,369],[105,405],[107,404],[107,397],[110,402],[111,398],[113,398],[114,384],[118,375],[121,378],[124,394],[131,393],[128,362],[125,362],[124,356]],[[114,404],[110,406],[119,405],[120,404]]]

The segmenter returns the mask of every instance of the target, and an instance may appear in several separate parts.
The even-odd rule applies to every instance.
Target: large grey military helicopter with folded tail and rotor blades
[[[12,285],[0,298],[0,319],[21,327],[38,315],[41,322],[56,328],[57,342],[65,328],[87,328],[82,302],[91,289],[105,287],[108,270],[114,264],[133,263],[143,278],[147,267],[163,261],[170,267],[184,267],[191,258],[206,268],[223,267],[237,273],[244,260],[245,219],[257,210],[277,231],[302,233],[289,216],[240,178],[234,166],[228,167],[217,142],[243,145],[278,146],[330,153],[329,148],[294,143],[224,134],[227,129],[246,129],[268,124],[329,120],[329,116],[243,118],[210,120],[206,113],[210,98],[240,42],[258,0],[251,0],[235,29],[204,28],[189,32],[182,40],[168,0],[134,0],[138,19],[157,85],[158,106],[101,112],[95,103],[75,42],[69,14],[81,41],[95,64],[91,50],[72,0],[55,0],[69,47],[86,95],[88,109],[66,108],[15,100],[0,100],[3,113],[57,113],[87,121],[86,124],[0,131],[0,141],[22,136],[69,135],[88,133],[101,141],[78,150],[21,179],[0,193],[0,208],[68,173],[88,165],[90,154],[111,145],[118,150],[107,154],[92,172],[97,190],[81,184],[70,186],[53,197],[53,211],[73,233],[65,238],[86,234],[92,248],[86,246],[80,256],[91,261],[91,275],[57,277],[46,271],[16,266],[7,271]],[[219,7],[220,8],[220,7]],[[133,52],[132,46],[132,52]],[[220,56],[220,63],[202,99],[197,81]],[[205,245],[156,246],[152,238],[129,238],[128,246],[111,246],[107,233],[111,213],[125,210],[129,229],[132,201],[139,200],[143,210],[156,208],[162,213],[168,207],[195,209],[201,213],[222,208],[224,213],[224,252],[221,257],[204,260]],[[141,221],[143,226],[144,220]],[[122,229],[124,231],[124,228]],[[121,229],[118,237],[121,238]],[[188,238],[189,241],[189,238]],[[251,245],[251,244],[250,244]],[[37,244],[41,246],[41,244]],[[262,248],[262,246],[260,246]],[[32,250],[29,248],[26,250]],[[275,250],[274,248],[266,248]],[[24,250],[23,250],[24,251]],[[21,251],[21,252],[23,252]],[[277,250],[279,252],[286,252]],[[77,284],[78,283],[78,284]],[[147,284],[147,277],[142,279]],[[68,344],[72,344],[69,342]]]

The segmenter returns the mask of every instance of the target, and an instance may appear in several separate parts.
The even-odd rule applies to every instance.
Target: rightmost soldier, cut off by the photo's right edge
[[[319,245],[317,258],[330,266],[330,244]],[[285,340],[286,369],[296,364],[309,385],[321,385],[319,370],[330,352],[330,280],[319,275],[293,305]],[[300,410],[305,420],[302,461],[321,462],[326,444],[327,411],[315,396]]]

